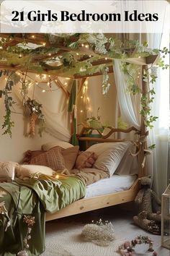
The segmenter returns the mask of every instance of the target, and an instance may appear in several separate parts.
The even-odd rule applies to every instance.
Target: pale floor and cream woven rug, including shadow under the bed
[[[92,220],[111,221],[115,228],[116,239],[108,247],[100,247],[92,242],[84,242],[81,231]],[[117,249],[127,240],[136,236],[149,236],[153,240],[153,249],[158,256],[170,256],[169,249],[161,247],[161,236],[150,234],[133,224],[133,213],[120,208],[105,208],[78,216],[58,219],[46,223],[46,249],[42,256],[120,256]],[[135,256],[152,256],[148,244],[135,247]]]

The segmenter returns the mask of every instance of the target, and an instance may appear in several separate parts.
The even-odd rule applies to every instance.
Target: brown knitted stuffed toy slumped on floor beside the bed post
[[[138,216],[133,217],[136,225],[153,234],[161,233],[161,200],[151,187],[151,177],[140,179],[141,189],[135,197],[135,205],[138,207]]]

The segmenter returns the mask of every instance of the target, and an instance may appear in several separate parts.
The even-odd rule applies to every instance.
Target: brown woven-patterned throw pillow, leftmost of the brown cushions
[[[35,156],[31,159],[30,163],[39,166],[48,166],[54,171],[63,170],[65,168],[60,147],[51,148],[50,150]]]

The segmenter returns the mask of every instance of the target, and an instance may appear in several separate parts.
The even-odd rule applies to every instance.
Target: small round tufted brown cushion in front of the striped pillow
[[[97,160],[97,154],[90,151],[80,152],[76,158],[75,168],[91,168]]]

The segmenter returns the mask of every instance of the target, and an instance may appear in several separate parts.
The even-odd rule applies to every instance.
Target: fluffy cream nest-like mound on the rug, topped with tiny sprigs
[[[100,218],[97,223],[91,221],[91,224],[86,224],[81,233],[85,241],[93,242],[100,246],[108,246],[115,239],[115,231],[111,222],[105,221],[102,223]]]

